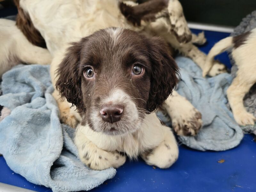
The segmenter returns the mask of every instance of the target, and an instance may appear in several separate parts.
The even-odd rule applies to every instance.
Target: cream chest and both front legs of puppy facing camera
[[[155,113],[145,117],[140,129],[124,136],[106,135],[92,131],[88,125],[78,125],[75,143],[80,159],[97,170],[110,166],[119,167],[124,164],[125,157],[119,152],[124,152],[130,158],[135,159],[140,155],[146,163],[160,168],[170,167],[179,154],[172,131],[169,127],[161,125]],[[88,148],[88,145],[93,147]],[[147,154],[147,151],[151,149],[153,151]]]

